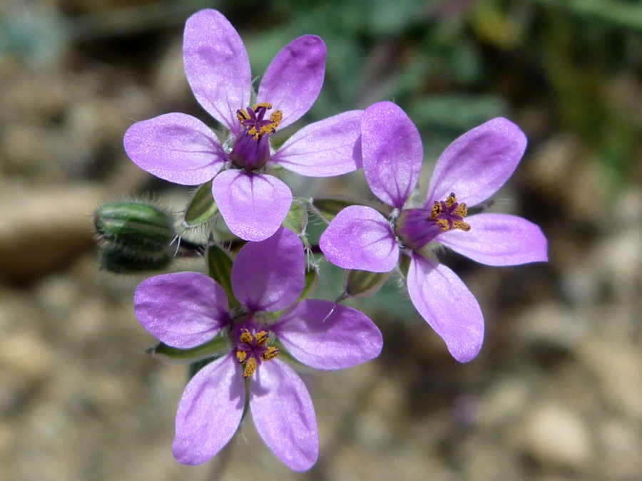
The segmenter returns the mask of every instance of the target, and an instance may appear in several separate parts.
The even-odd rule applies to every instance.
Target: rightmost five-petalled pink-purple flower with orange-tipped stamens
[[[370,189],[394,207],[386,219],[370,207],[342,210],[320,239],[325,257],[344,269],[387,272],[399,252],[410,257],[407,286],[419,314],[460,362],[477,356],[484,339],[479,303],[454,272],[439,264],[434,247],[449,247],[482,264],[544,262],[546,237],[535,224],[507,214],[467,216],[514,172],[526,136],[505,118],[465,133],[439,157],[426,202],[407,208],[422,168],[417,128],[397,105],[382,102],[362,118],[363,168]]]

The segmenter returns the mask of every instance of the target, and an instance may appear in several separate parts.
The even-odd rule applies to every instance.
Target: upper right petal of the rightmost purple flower
[[[426,207],[451,192],[469,206],[488,199],[513,174],[526,150],[526,135],[505,118],[469,130],[448,146],[434,167]]]

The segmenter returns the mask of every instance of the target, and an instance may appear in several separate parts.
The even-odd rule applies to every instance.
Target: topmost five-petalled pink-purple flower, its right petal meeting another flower
[[[191,115],[168,113],[132,125],[125,150],[138,167],[161,179],[181,185],[213,180],[214,200],[230,230],[245,240],[267,239],[290,210],[292,192],[266,170],[278,164],[326,177],[361,167],[355,145],[362,110],[308,125],[277,152],[270,148],[270,135],[315,102],[325,57],[325,43],[317,36],[290,42],[270,63],[250,105],[252,73],[243,41],[220,12],[199,11],[185,24],[185,75],[196,100],[228,129],[228,140],[221,143]]]

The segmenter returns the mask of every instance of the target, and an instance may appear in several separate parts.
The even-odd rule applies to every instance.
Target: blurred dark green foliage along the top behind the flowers
[[[308,120],[394,100],[434,160],[489,118],[536,109],[542,132],[581,135],[626,182],[642,120],[642,3],[636,0],[118,0],[0,9],[0,58],[58,58],[74,42],[178,31],[203,7],[220,9],[248,46],[255,76],[292,38],[327,43],[325,86]],[[13,8],[11,7],[13,6]],[[73,8],[72,8],[73,7]],[[55,39],[52,41],[51,39]],[[640,94],[642,95],[642,94]],[[543,122],[544,123],[544,122]]]

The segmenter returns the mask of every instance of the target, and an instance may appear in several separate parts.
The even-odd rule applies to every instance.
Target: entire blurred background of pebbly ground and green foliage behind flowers
[[[146,356],[154,339],[133,314],[151,274],[99,270],[101,202],[185,206],[189,190],[139,170],[122,139],[161,113],[211,121],[181,54],[185,19],[205,7],[240,31],[257,78],[292,38],[322,36],[325,85],[297,125],[394,100],[421,130],[424,190],[469,128],[503,115],[529,138],[492,209],[539,224],[550,262],[443,254],[486,318],[465,365],[395,279],[355,303],[384,351],[305,374],[321,438],[307,473],[287,470],[249,418],[213,461],[179,465],[185,367]],[[0,479],[641,480],[641,74],[635,0],[3,0]],[[307,197],[367,192],[360,172],[294,182]],[[322,276],[317,296],[337,296],[339,269]]]

